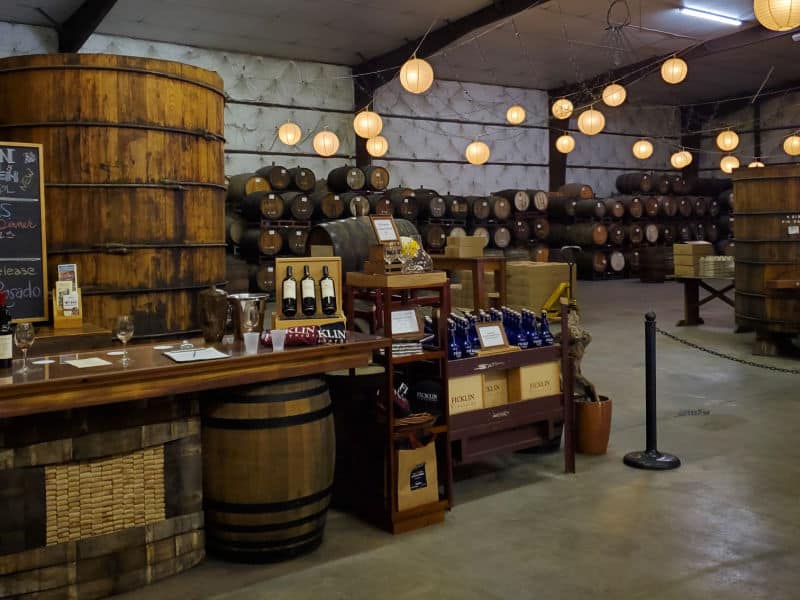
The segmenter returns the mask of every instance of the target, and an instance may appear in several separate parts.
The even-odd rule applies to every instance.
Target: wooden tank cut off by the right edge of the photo
[[[739,169],[733,182],[736,323],[800,333],[800,165]]]

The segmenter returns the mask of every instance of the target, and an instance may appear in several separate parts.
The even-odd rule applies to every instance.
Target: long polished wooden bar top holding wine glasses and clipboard
[[[390,344],[386,338],[348,332],[343,344],[326,344],[287,348],[273,352],[259,347],[257,354],[245,354],[241,342],[206,344],[202,339],[190,340],[196,348],[214,346],[229,358],[176,363],[164,356],[164,350],[138,344],[128,346],[130,364],[123,367],[121,346],[101,350],[80,351],[28,359],[31,369],[19,373],[21,360],[15,360],[12,374],[0,376],[0,418],[31,415],[83,406],[97,406],[129,400],[142,400],[169,394],[247,385],[264,381],[301,377],[369,364],[372,352]],[[79,369],[63,364],[74,358],[102,358],[110,365]],[[33,361],[49,358],[53,363],[34,365]]]

